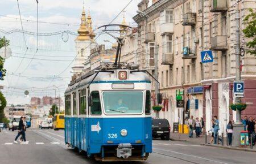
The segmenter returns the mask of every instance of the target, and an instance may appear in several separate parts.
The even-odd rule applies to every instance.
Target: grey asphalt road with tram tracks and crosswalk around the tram
[[[100,163],[64,144],[64,131],[29,129],[27,145],[14,144],[17,131],[0,132],[0,163],[52,164]],[[153,141],[153,153],[145,162],[114,163],[255,163],[256,153],[192,145],[180,141]]]

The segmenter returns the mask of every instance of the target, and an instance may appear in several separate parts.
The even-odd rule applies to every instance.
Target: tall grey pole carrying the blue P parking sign
[[[241,80],[241,71],[240,71],[240,55],[241,55],[241,49],[240,49],[240,10],[239,10],[239,0],[237,1],[236,5],[236,12],[235,12],[235,23],[236,23],[236,44],[235,44],[235,50],[236,50],[236,81]],[[235,97],[234,100],[236,103],[241,102],[240,97]],[[236,110],[236,122],[234,123],[234,141],[233,146],[240,146],[240,132],[243,131],[243,124],[241,122],[241,111]]]

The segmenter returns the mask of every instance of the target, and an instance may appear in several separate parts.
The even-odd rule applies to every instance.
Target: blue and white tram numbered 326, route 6
[[[96,70],[65,91],[65,144],[97,161],[143,161],[152,152],[151,82],[143,71]]]

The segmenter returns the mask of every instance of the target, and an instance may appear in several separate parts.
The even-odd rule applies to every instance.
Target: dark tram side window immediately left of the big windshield
[[[92,106],[90,107],[90,114],[101,115],[100,93],[98,91],[93,91],[90,95],[92,97]]]

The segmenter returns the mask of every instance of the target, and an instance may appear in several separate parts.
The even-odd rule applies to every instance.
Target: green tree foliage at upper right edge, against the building
[[[256,56],[256,10],[249,8],[249,14],[243,19],[243,24],[246,28],[243,29],[245,37],[250,38],[250,41],[246,43],[248,49],[246,52]]]

